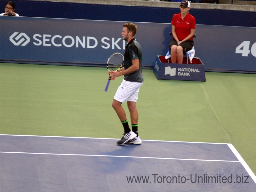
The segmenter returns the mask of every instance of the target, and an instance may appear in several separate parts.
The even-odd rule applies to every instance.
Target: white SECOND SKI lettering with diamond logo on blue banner
[[[10,41],[16,46],[26,46],[32,42],[36,46],[65,46],[76,48],[96,48],[103,49],[125,49],[126,42],[122,38],[102,37],[100,40],[93,36],[61,36],[50,34],[34,34],[32,39],[24,32],[14,32],[10,36]]]

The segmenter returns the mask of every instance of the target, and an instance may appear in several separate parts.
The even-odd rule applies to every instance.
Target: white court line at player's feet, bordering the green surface
[[[0,134],[0,136],[22,136],[22,137],[53,137],[53,138],[76,138],[76,139],[106,139],[106,140],[120,140],[115,138],[98,138],[98,137],[65,137],[65,136],[45,136],[45,135],[8,135]],[[228,143],[207,143],[207,142],[192,142],[192,141],[166,141],[166,140],[142,140],[142,141],[157,141],[157,142],[174,142],[174,143],[202,143],[202,144],[220,144],[227,145]]]

